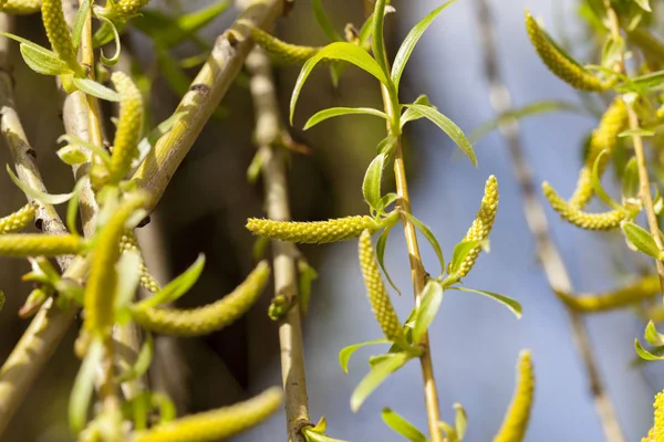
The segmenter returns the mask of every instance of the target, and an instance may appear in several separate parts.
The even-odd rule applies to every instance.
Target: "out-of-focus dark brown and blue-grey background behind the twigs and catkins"
[[[579,96],[551,75],[537,57],[523,28],[523,10],[542,17],[559,39],[583,38],[574,14],[575,2],[489,0],[496,24],[497,57],[515,106],[541,99],[579,102]],[[208,1],[157,1],[151,8],[196,10]],[[360,27],[360,0],[323,2],[342,32],[346,23]],[[421,18],[439,0],[394,0],[397,13],[386,20],[391,54]],[[429,28],[411,59],[402,83],[402,99],[426,93],[438,109],[466,133],[495,117],[489,103],[483,66],[476,0],[458,1]],[[200,33],[211,42],[231,22],[229,10]],[[38,17],[21,18],[15,31],[44,43]],[[309,0],[297,0],[292,13],[278,22],[277,34],[301,44],[325,44]],[[139,32],[126,42],[137,66],[154,70],[155,53]],[[18,51],[17,51],[18,52]],[[199,50],[178,46],[173,55],[187,57]],[[588,54],[574,52],[583,62]],[[52,193],[71,189],[71,172],[55,156],[56,138],[63,133],[56,91],[52,78],[30,72],[14,56],[18,107],[38,151],[45,183]],[[157,70],[158,71],[158,70]],[[187,72],[194,75],[196,69]],[[286,114],[299,72],[276,71]],[[151,109],[155,122],[166,118],[178,102],[164,77],[152,85]],[[292,213],[311,221],[347,214],[364,214],[361,182],[384,136],[383,124],[363,116],[335,118],[303,133],[305,119],[330,106],[381,107],[378,85],[373,77],[349,69],[339,88],[328,71],[317,70],[305,86],[295,114],[292,136],[311,147],[311,155],[294,155],[289,169]],[[563,196],[571,193],[582,162],[582,145],[596,124],[592,115],[553,113],[525,119],[520,134],[536,181],[548,180]],[[253,239],[245,229],[248,217],[262,217],[262,186],[249,185],[246,170],[256,148],[251,133],[253,114],[247,78],[240,77],[210,120],[190,155],[173,178],[148,227],[139,233],[146,260],[164,283],[184,271],[198,253],[207,256],[203,277],[179,306],[191,307],[230,292],[253,266]],[[491,252],[481,255],[467,286],[490,290],[517,298],[523,317],[517,320],[500,305],[469,293],[448,292],[430,328],[435,376],[440,409],[454,420],[453,403],[460,402],[469,419],[467,441],[491,440],[509,403],[515,385],[515,364],[520,349],[532,349],[537,375],[536,402],[528,441],[602,441],[588,382],[570,335],[568,316],[550,292],[536,261],[533,241],[521,209],[521,194],[507,146],[494,131],[476,146],[478,167],[463,157],[454,144],[432,124],[416,122],[407,129],[408,179],[413,211],[440,240],[447,257],[473,222],[484,183],[496,175],[500,183],[500,209],[491,234]],[[0,162],[10,162],[7,149]],[[388,186],[392,186],[391,183]],[[0,173],[0,212],[9,213],[24,203],[23,194]],[[540,192],[538,191],[538,194]],[[548,209],[553,240],[560,246],[578,291],[602,291],[625,282],[618,269],[631,254],[620,238],[588,233],[570,227]],[[608,241],[610,239],[610,241]],[[423,243],[425,265],[438,265],[434,252]],[[364,296],[356,257],[356,243],[303,246],[302,252],[318,270],[310,314],[304,319],[304,343],[312,419],[324,415],[329,434],[354,442],[398,441],[381,420],[391,407],[421,429],[426,429],[423,389],[416,361],[391,377],[357,413],[349,407],[350,396],[367,371],[372,349],[360,350],[349,373],[339,367],[343,347],[381,337]],[[387,245],[386,264],[402,297],[394,297],[402,318],[413,306],[409,267],[401,227]],[[0,314],[0,360],[9,355],[28,320],[15,312],[31,287],[19,275],[28,264],[0,261],[0,282],[8,302]],[[201,339],[160,339],[157,381],[176,400],[180,413],[211,409],[243,399],[267,386],[280,383],[277,325],[266,315],[269,294],[242,320]],[[643,323],[629,312],[602,314],[587,319],[593,348],[609,392],[618,404],[629,441],[640,440],[652,424],[652,401],[662,389],[656,367],[631,369],[634,337]],[[73,354],[72,329],[48,369],[34,385],[2,442],[60,442],[73,440],[68,432],[66,407],[80,361]],[[373,349],[373,351],[376,351]],[[238,436],[238,441],[284,440],[283,413]]]

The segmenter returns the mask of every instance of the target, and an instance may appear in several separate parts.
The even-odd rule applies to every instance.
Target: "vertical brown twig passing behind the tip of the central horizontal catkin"
[[[256,143],[262,160],[268,218],[290,221],[286,178],[286,150],[277,144],[283,127],[272,80],[270,60],[255,48],[247,59],[251,74],[251,95],[256,113]],[[291,307],[279,325],[281,373],[286,393],[286,418],[289,442],[300,442],[302,428],[310,425],[302,326],[298,303],[298,273],[293,244],[273,240],[274,295],[284,295]]]

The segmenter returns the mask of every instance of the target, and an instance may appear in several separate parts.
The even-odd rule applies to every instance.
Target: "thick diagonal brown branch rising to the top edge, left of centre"
[[[215,42],[210,56],[175,110],[183,114],[181,118],[134,173],[133,179],[151,197],[148,211],[158,203],[170,178],[242,69],[253,46],[248,25],[269,28],[283,8],[284,0],[253,0]],[[243,22],[248,25],[242,25]]]

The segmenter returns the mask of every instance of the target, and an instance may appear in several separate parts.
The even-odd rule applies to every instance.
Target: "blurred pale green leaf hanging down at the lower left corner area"
[[[103,355],[104,347],[101,340],[92,340],[76,375],[69,403],[69,422],[74,434],[79,434],[85,428],[87,408],[94,391],[94,379]]]

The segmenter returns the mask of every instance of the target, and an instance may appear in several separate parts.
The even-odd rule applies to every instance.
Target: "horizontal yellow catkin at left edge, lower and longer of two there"
[[[0,255],[58,256],[73,255],[85,251],[87,243],[77,235],[45,235],[39,233],[18,233],[0,235]]]

